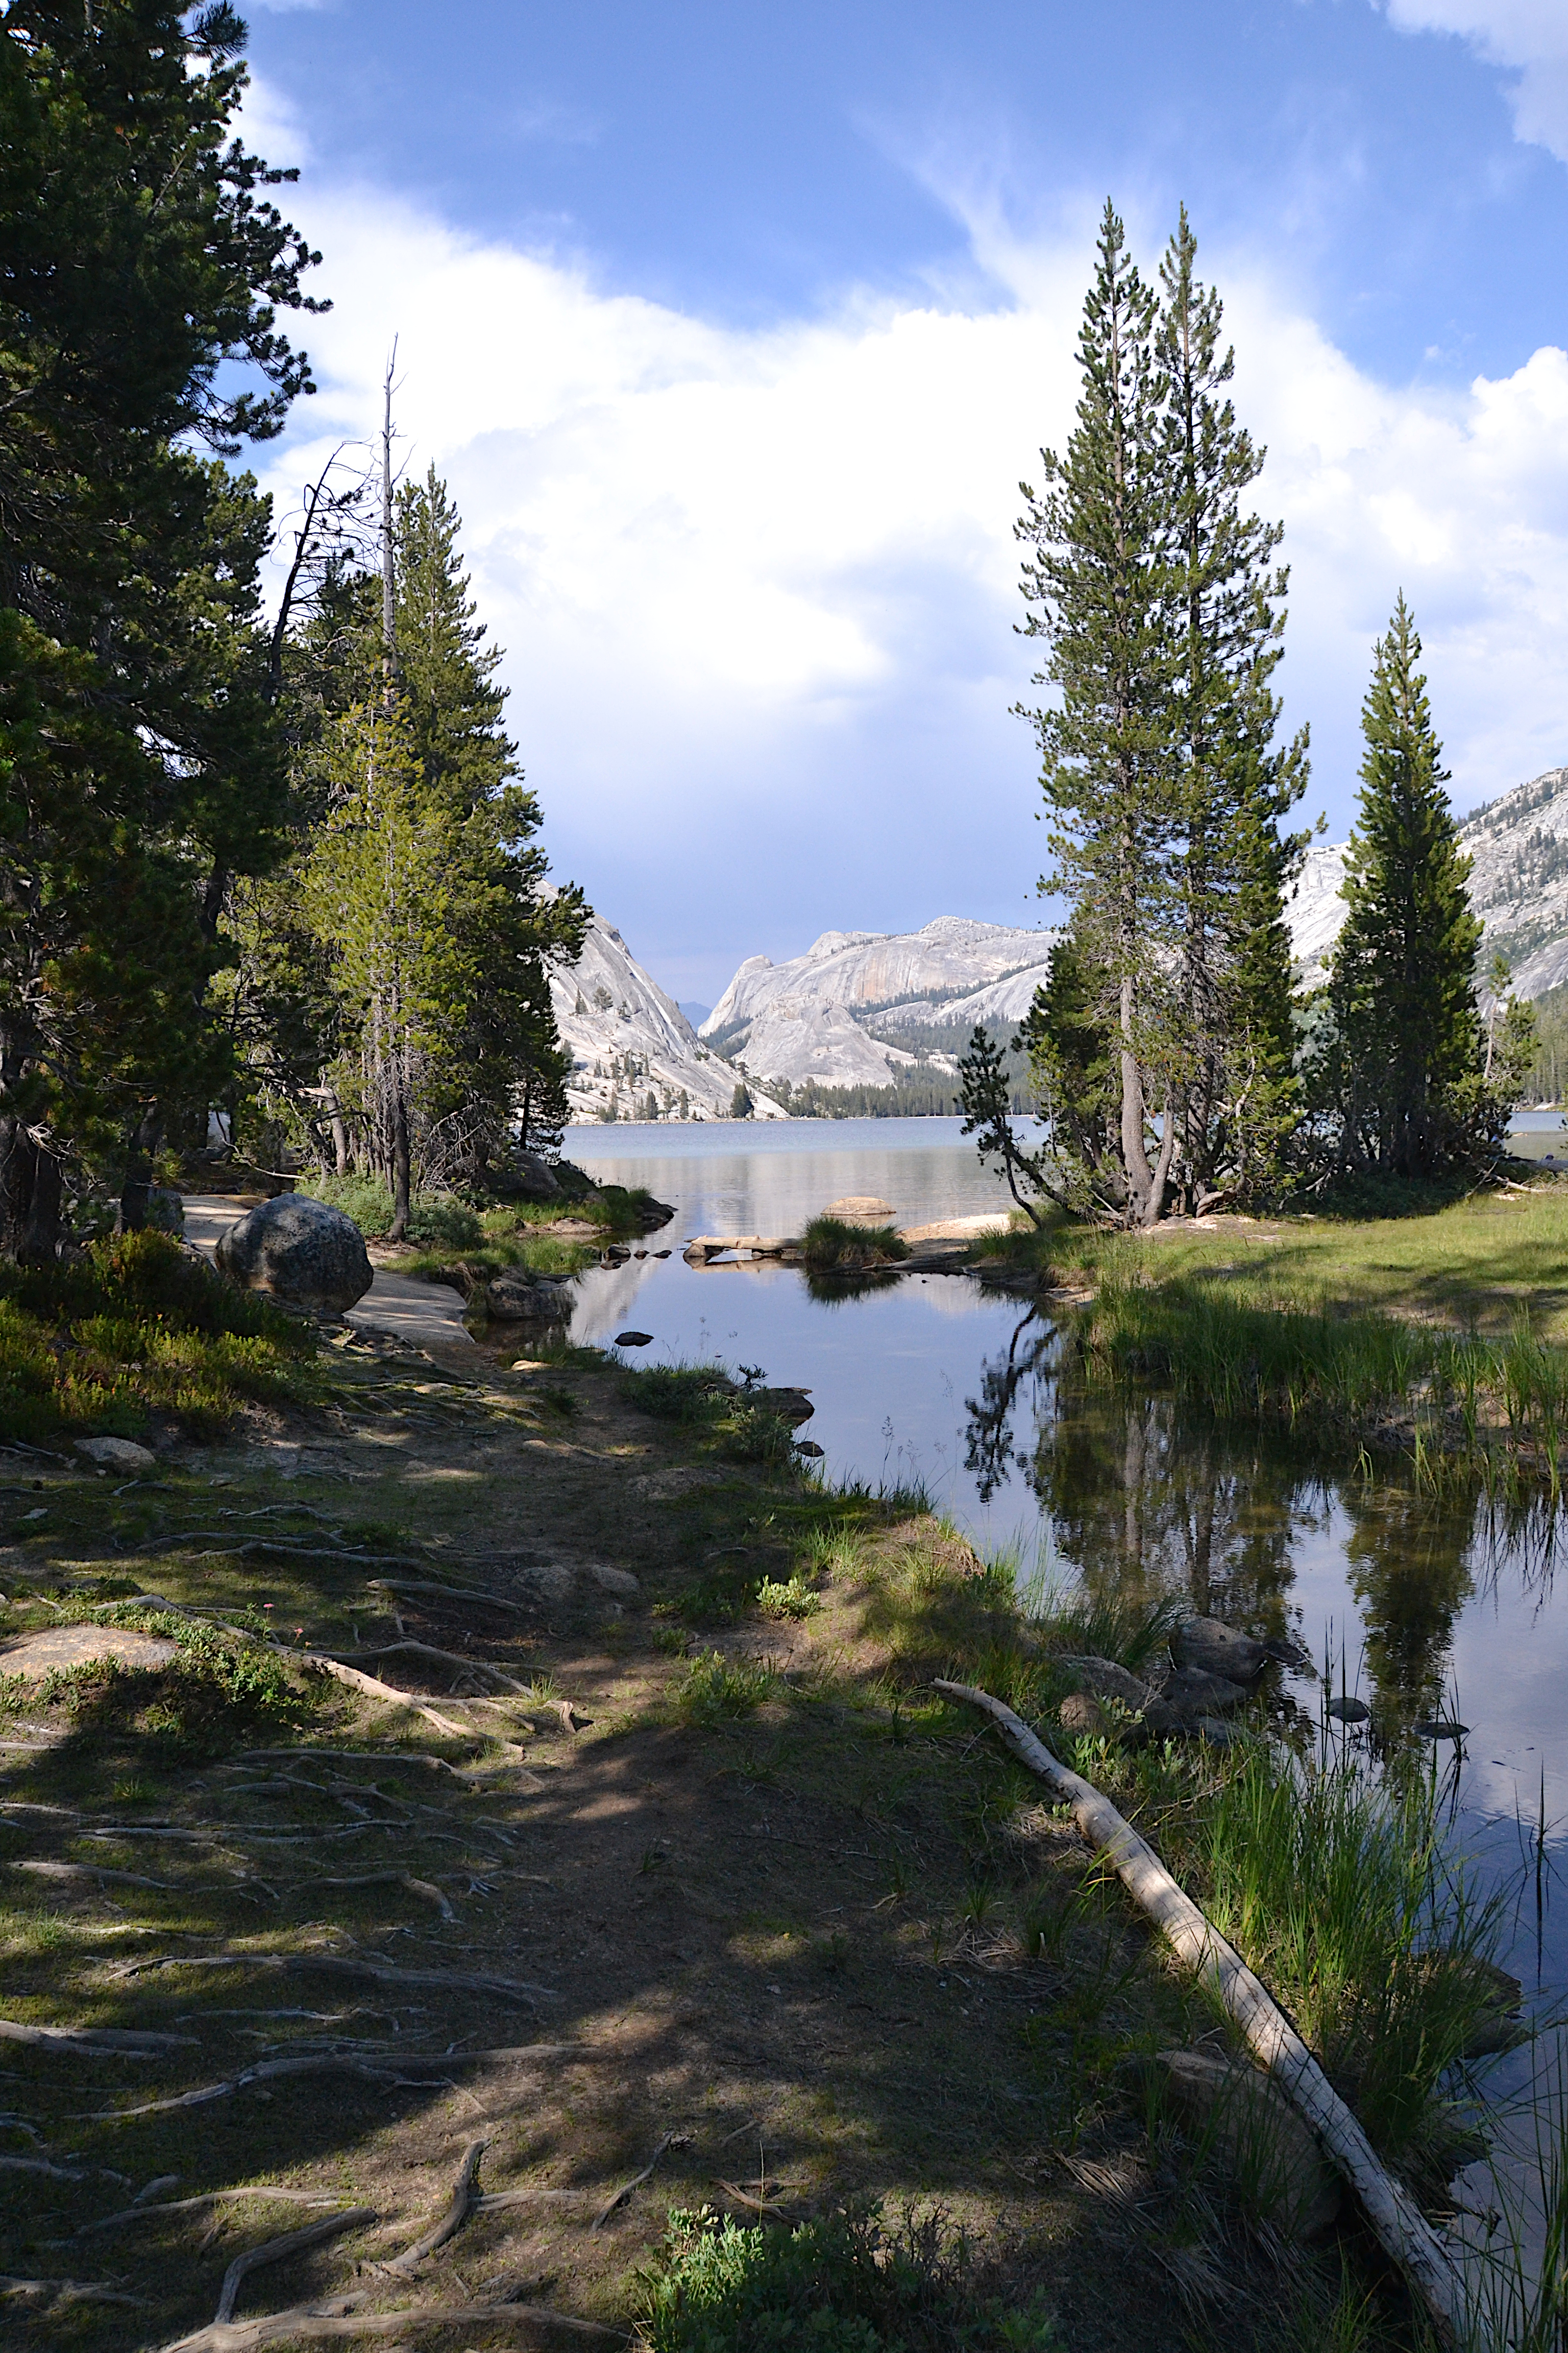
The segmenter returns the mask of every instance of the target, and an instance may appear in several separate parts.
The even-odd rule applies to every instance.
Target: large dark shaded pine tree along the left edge
[[[12,0],[0,26],[0,1252],[54,1254],[99,1165],[223,1080],[223,878],[280,847],[259,567],[233,454],[310,388],[315,261],[230,139],[228,7]],[[226,362],[249,388],[228,393]]]

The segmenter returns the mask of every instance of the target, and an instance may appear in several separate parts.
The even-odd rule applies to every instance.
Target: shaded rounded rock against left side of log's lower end
[[[1316,2238],[1340,2212],[1340,2177],[1279,2085],[1222,2052],[1157,2052],[1164,2106],[1215,2158],[1244,2202],[1276,2228]]]

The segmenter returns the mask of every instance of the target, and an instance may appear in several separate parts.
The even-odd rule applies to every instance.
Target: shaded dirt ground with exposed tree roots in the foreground
[[[329,1414],[120,1494],[21,1459],[47,1518],[9,1489],[9,1633],[148,1591],[249,1609],[473,1734],[313,1678],[292,1722],[202,1713],[169,1668],[7,1687],[0,2014],[143,2040],[5,2042],[5,2341],[165,2346],[242,2249],[339,2205],[374,2221],[247,2275],[242,2318],[522,2297],[621,2325],[672,2205],[856,2195],[947,2209],[1077,2353],[1175,2339],[1114,2054],[1185,2035],[1187,1998],[1084,1908],[1065,1833],[1018,1833],[1020,1777],[922,1699],[865,1574],[907,1572],[940,1661],[973,1555],[632,1412],[597,1360],[473,1355],[451,1381],[350,1344]],[[818,1541],[811,1614],[759,1614],[835,1529],[860,1553]],[[1067,1929],[1032,1958],[1041,1901]],[[475,2139],[477,2202],[388,2273]]]

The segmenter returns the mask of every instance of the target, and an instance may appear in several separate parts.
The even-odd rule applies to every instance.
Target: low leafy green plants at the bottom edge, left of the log
[[[976,2294],[976,2264],[940,2217],[889,2231],[877,2207],[795,2228],[672,2209],[663,2261],[644,2273],[649,2353],[1058,2353],[1032,2299]]]

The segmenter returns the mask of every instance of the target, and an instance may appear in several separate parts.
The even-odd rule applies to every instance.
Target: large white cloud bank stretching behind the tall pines
[[[266,148],[263,148],[266,153]],[[1044,847],[1018,478],[1072,424],[1088,224],[973,228],[994,308],[858,299],[729,329],[574,261],[468,238],[383,191],[301,186],[336,308],[280,511],[367,435],[400,336],[400,424],[465,518],[557,868],[682,995],[827,927],[1032,920]],[[1152,254],[1150,254],[1152,259]],[[1406,588],[1455,793],[1568,753],[1568,358],[1455,398],[1371,381],[1248,256],[1237,402],[1288,522],[1291,722],[1335,831],[1371,638]]]

